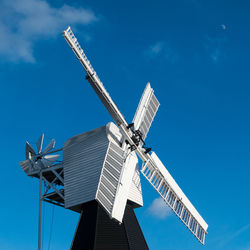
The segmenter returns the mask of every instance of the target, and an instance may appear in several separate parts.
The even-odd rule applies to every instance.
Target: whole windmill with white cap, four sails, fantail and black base
[[[50,143],[53,147],[42,151],[43,136],[37,142],[38,153],[26,143],[26,160],[20,165],[27,175],[40,178],[39,215],[42,200],[81,214],[71,249],[148,249],[134,214],[135,208],[143,206],[141,172],[177,218],[204,244],[207,223],[156,153],[146,147],[145,139],[160,105],[150,83],[146,85],[132,123],[128,123],[70,27],[63,36],[116,125],[110,122],[73,136],[57,150],[52,150],[53,141]],[[59,155],[48,157],[48,154],[59,151],[63,153],[63,161],[55,163]],[[142,161],[141,169],[138,158]],[[45,190],[42,190],[42,182],[46,183]]]

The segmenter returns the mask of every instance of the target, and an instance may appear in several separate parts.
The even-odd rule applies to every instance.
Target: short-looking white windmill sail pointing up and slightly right
[[[160,103],[154,95],[154,90],[150,83],[147,83],[133,119],[134,129],[142,132],[143,140],[148,134],[159,106]]]

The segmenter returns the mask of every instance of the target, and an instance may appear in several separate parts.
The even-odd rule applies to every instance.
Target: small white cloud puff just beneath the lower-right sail
[[[172,211],[171,208],[160,197],[152,202],[152,204],[148,208],[148,213],[159,219],[165,219],[167,216],[171,215]]]

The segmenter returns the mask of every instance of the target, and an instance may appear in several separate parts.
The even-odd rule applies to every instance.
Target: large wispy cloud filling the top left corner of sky
[[[69,5],[55,8],[43,0],[3,0],[0,9],[0,56],[12,62],[34,62],[37,40],[55,38],[68,25],[97,20],[91,10]]]

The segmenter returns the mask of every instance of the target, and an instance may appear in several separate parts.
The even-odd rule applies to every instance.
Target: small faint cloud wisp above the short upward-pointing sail
[[[161,57],[171,63],[178,61],[178,53],[173,50],[166,42],[158,41],[153,45],[150,45],[145,51],[147,59],[154,59]]]

